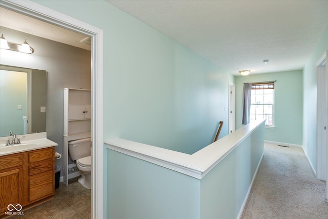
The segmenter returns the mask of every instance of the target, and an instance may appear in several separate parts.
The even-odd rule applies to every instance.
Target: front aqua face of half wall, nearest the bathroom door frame
[[[107,218],[199,218],[199,180],[113,150],[107,154]]]

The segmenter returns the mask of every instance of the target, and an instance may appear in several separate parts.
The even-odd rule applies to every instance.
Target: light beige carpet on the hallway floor
[[[326,184],[301,148],[265,144],[264,157],[241,218],[328,218]]]

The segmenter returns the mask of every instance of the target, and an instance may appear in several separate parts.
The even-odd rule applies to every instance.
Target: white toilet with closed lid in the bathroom
[[[78,182],[91,189],[91,138],[83,138],[68,142],[68,153],[81,172]]]

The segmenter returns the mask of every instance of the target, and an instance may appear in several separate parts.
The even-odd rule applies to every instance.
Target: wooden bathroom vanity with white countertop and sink
[[[22,144],[0,145],[0,216],[8,205],[24,207],[42,203],[54,195],[56,143],[42,133],[26,136]],[[31,137],[43,137],[31,140]],[[1,141],[2,143],[3,141]]]

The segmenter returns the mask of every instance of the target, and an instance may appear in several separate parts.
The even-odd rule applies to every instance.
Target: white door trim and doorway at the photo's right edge
[[[326,180],[326,171],[327,171],[327,146],[322,144],[322,138],[326,136],[326,131],[323,130],[323,126],[326,126],[326,120],[322,121],[322,112],[326,111],[326,108],[323,109],[324,102],[327,102],[326,99],[323,99],[326,93],[327,87],[327,52],[325,52],[319,61],[316,64],[316,76],[317,76],[317,111],[316,111],[316,177],[319,180]],[[325,75],[325,76],[324,76]],[[323,80],[323,78],[325,78]],[[327,118],[327,117],[326,117]],[[324,166],[323,166],[324,165]],[[328,194],[327,194],[328,195]]]

